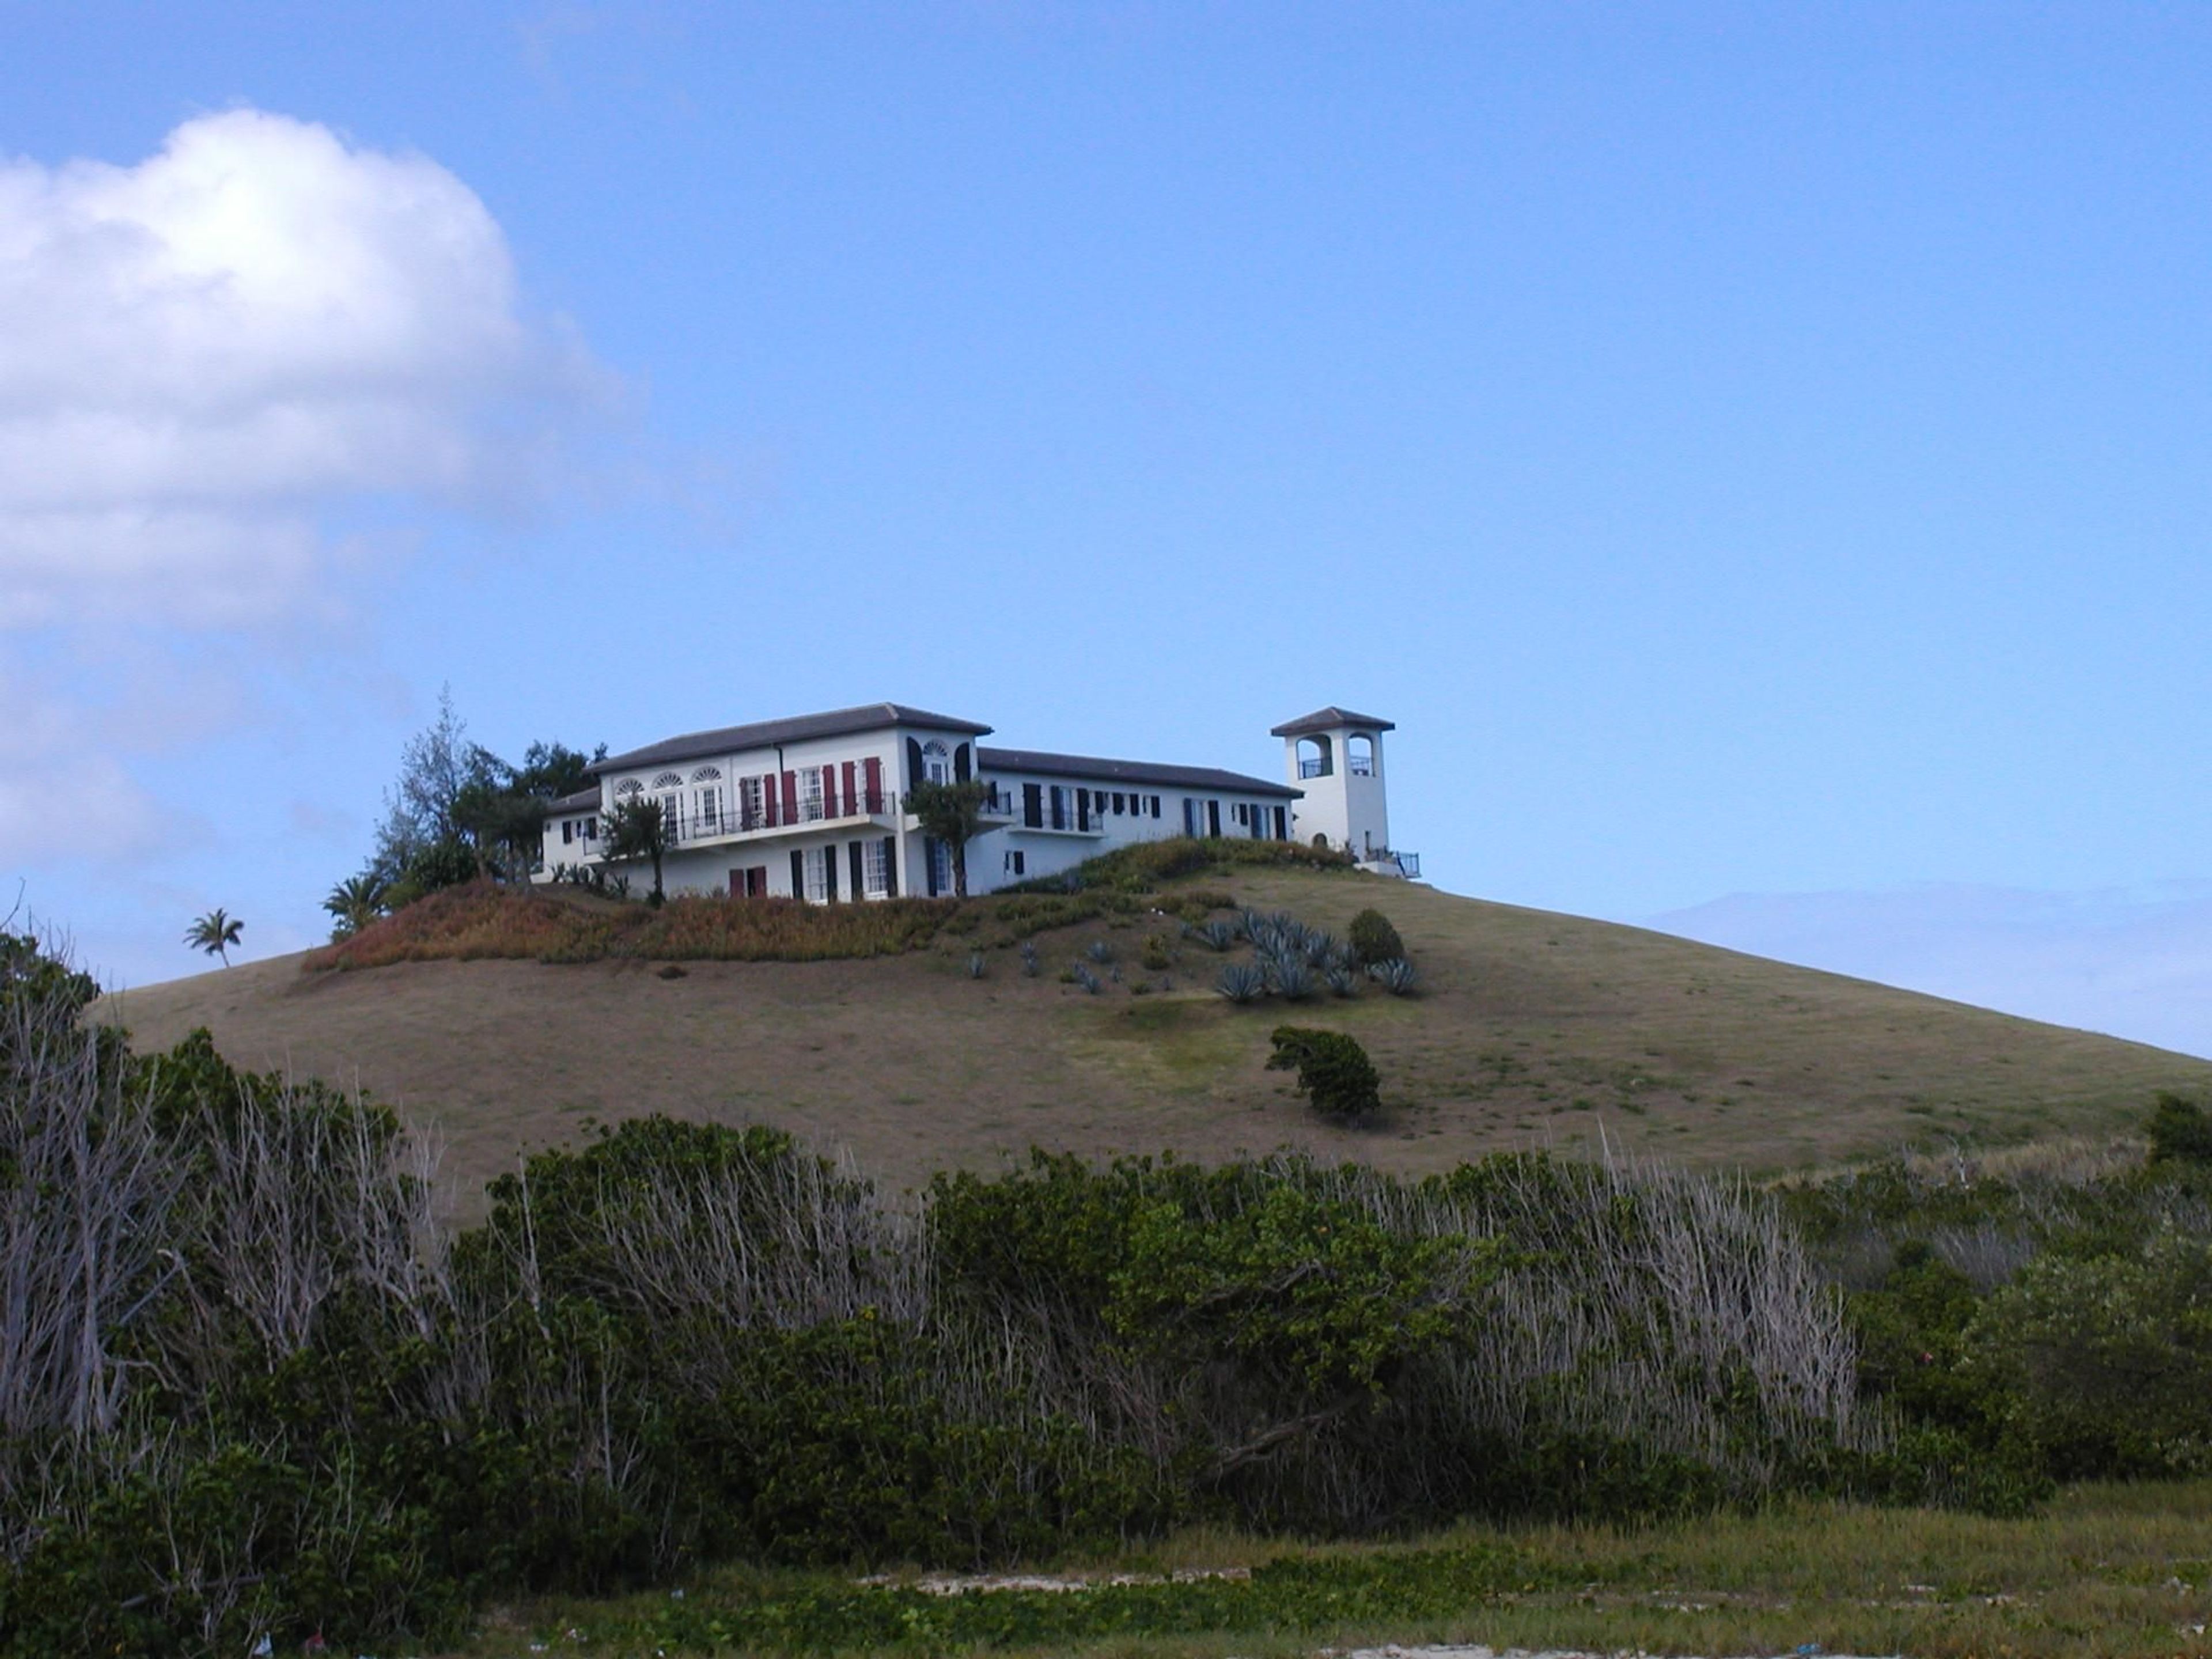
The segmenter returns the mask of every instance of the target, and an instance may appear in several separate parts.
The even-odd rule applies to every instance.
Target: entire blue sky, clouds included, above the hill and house
[[[0,907],[894,699],[2212,1053],[2212,11],[0,0]]]

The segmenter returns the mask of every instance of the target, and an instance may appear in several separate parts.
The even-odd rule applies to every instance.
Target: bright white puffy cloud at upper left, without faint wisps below
[[[500,509],[608,378],[422,155],[261,111],[0,164],[0,628],[257,626],[349,504]]]

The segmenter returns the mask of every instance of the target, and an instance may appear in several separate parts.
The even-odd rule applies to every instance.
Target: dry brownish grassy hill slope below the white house
[[[1177,942],[1166,973],[1144,971],[1144,936],[1179,927],[1137,914],[1035,933],[1035,978],[1002,927],[922,929],[896,956],[690,960],[681,978],[650,953],[347,971],[292,956],[117,993],[100,1015],[139,1046],[208,1026],[234,1064],[358,1082],[438,1124],[462,1208],[520,1150],[650,1110],[770,1121],[900,1186],[1029,1146],[1221,1157],[1287,1144],[1422,1172],[1601,1137],[1774,1172],[1902,1144],[2101,1135],[2139,1124],[2154,1091],[2212,1097],[2212,1062],[1632,927],[1352,872],[1201,880],[1338,936],[1383,907],[1422,995],[1232,1006],[1212,993],[1223,958],[1194,942]],[[978,900],[987,920],[993,902]],[[655,936],[633,938],[653,949]],[[1093,940],[1124,973],[1099,995],[1060,978]],[[971,980],[978,945],[987,973]],[[1137,980],[1152,989],[1135,993]],[[1367,1044],[1385,1121],[1314,1121],[1265,1071],[1283,1020]]]

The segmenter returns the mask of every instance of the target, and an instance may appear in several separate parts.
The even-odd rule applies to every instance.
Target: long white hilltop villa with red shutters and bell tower
[[[1321,710],[1276,732],[1303,734],[1312,721],[1336,714],[1343,710]],[[1347,719],[1369,734],[1389,730],[1387,721]],[[1358,814],[1329,805],[1307,823],[1310,807],[1296,781],[984,748],[978,739],[989,734],[991,728],[978,721],[865,703],[648,743],[599,761],[595,787],[553,803],[538,880],[551,880],[557,869],[604,867],[604,816],[622,801],[648,799],[661,805],[668,845],[661,885],[670,894],[812,902],[936,898],[953,891],[951,847],[925,836],[902,803],[920,781],[967,779],[991,790],[984,832],[967,847],[973,894],[1168,836],[1327,836],[1332,847],[1385,845],[1380,772],[1363,774]],[[1323,734],[1334,741],[1336,728]],[[1287,741],[1296,772],[1301,737]],[[1380,761],[1380,750],[1374,754]],[[1316,776],[1332,779],[1323,785],[1327,801],[1349,783],[1332,772]],[[1332,834],[1338,821],[1347,830]],[[1374,832],[1374,841],[1354,843],[1352,830]],[[630,883],[635,887],[639,876],[630,874]]]

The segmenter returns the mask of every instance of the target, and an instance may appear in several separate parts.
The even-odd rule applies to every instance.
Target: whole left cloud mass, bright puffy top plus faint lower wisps
[[[161,849],[133,761],[281,706],[411,520],[564,487],[613,385],[425,155],[237,108],[0,159],[0,858]]]

